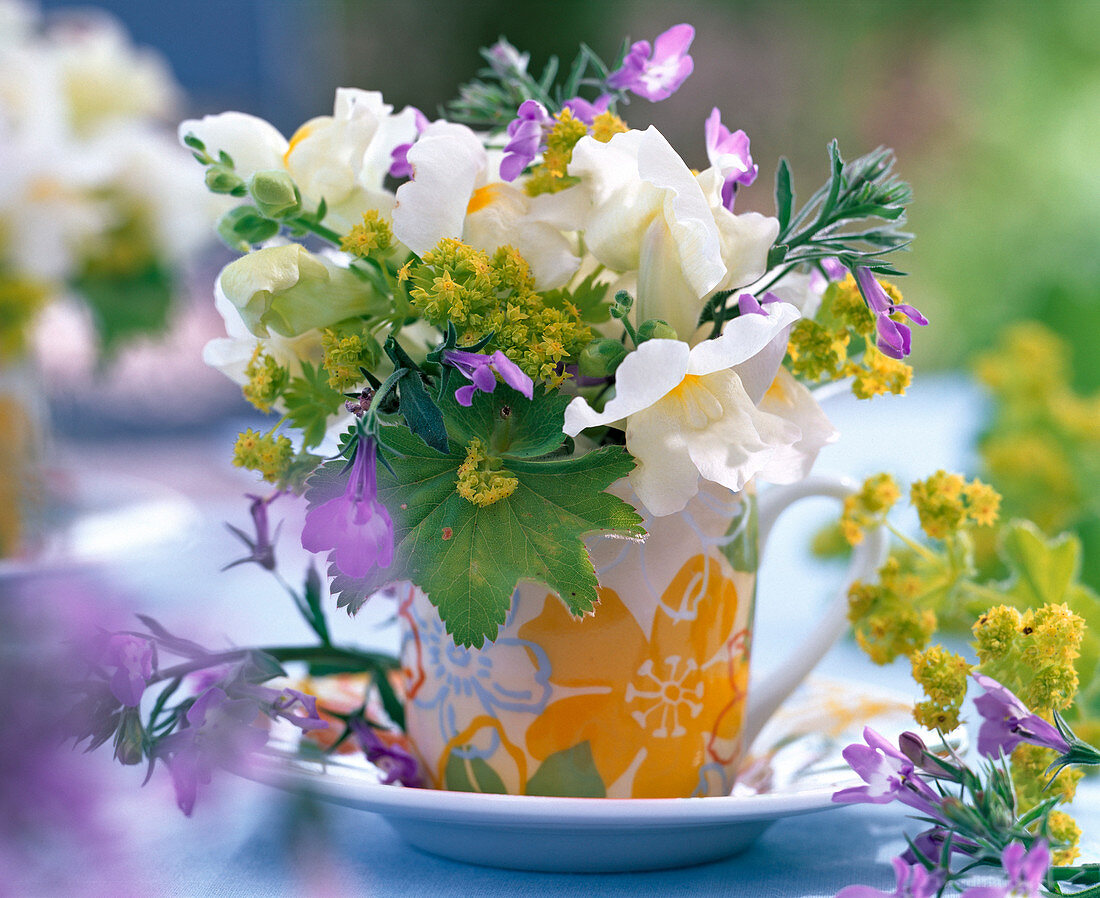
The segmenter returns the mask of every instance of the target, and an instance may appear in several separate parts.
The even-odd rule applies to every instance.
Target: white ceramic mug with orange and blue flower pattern
[[[634,543],[588,540],[600,604],[581,620],[524,583],[495,642],[451,642],[424,592],[399,601],[406,729],[437,788],[514,795],[728,795],[754,736],[847,628],[847,588],[873,574],[881,533],[806,643],[748,698],[758,558],[800,499],[844,500],[813,477],[757,499],[708,484]],[[626,481],[615,492],[636,507]]]

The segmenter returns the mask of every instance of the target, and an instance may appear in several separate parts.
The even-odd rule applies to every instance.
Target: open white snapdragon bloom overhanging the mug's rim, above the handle
[[[565,434],[625,426],[626,448],[638,462],[630,485],[654,515],[684,508],[700,478],[730,490],[758,475],[776,483],[801,479],[833,438],[832,426],[780,373],[798,309],[785,303],[768,308],[767,315],[734,319],[719,337],[695,347],[644,342],[619,365],[615,396],[602,413],[581,397],[570,403]]]

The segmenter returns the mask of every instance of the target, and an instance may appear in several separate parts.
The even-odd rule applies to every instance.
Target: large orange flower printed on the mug
[[[556,694],[527,730],[540,760],[587,742],[607,787],[630,777],[635,798],[705,791],[707,745],[740,730],[747,664],[730,657],[738,595],[719,562],[691,558],[661,596],[647,634],[618,594],[600,590],[580,621],[553,595],[520,629],[550,661]]]

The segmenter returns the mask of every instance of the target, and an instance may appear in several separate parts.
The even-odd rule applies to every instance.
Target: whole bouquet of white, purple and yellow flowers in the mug
[[[279,416],[234,463],[305,493],[338,606],[411,581],[476,647],[520,581],[587,614],[584,538],[645,537],[613,482],[654,515],[701,481],[792,482],[836,436],[806,384],[904,391],[926,321],[878,280],[910,240],[892,154],[833,143],[801,207],[781,162],[776,217],[735,211],[758,167],[717,109],[697,173],[620,117],[675,91],[693,34],[612,65],[582,47],[563,78],[502,40],[436,121],[341,89],[290,140],[240,112],[180,125],[240,204],[206,358]]]

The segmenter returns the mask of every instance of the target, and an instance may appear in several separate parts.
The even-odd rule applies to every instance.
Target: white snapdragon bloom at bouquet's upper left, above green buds
[[[285,171],[307,207],[316,208],[323,198],[326,221],[346,230],[371,209],[389,213],[394,198],[383,180],[394,147],[416,135],[416,110],[393,114],[377,91],[340,88],[332,114],[310,119],[290,140],[243,112],[189,119],[179,125],[180,140],[188,134],[213,156],[227,152],[244,180],[256,172]]]

